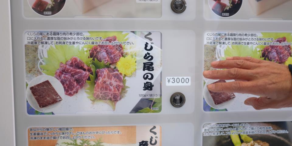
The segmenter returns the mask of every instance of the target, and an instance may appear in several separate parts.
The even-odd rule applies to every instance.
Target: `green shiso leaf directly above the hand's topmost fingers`
[[[224,50],[224,57],[222,57],[222,60],[225,60],[226,57],[253,57],[256,59],[262,58],[262,50],[258,50],[257,48],[253,48],[253,46],[247,46],[247,45],[231,45],[227,46],[227,48]]]

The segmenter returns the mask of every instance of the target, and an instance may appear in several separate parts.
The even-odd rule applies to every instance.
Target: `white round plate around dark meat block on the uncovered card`
[[[35,110],[42,112],[42,113],[50,113],[50,112],[53,112],[55,109],[59,109],[59,107],[61,105],[60,103],[62,102],[61,101],[61,102],[55,103],[53,105],[50,105],[50,106],[47,106],[44,108],[40,108],[40,106],[36,102],[36,99],[34,98],[33,94],[31,93],[30,87],[32,87],[36,84],[39,84],[41,82],[47,81],[47,80],[52,84],[52,86],[57,91],[57,93],[61,96],[62,99],[64,99],[64,96],[65,96],[64,88],[63,88],[61,82],[52,76],[41,75],[41,76],[38,76],[38,77],[34,78],[33,80],[31,80],[26,88],[26,99],[31,107],[33,107]]]

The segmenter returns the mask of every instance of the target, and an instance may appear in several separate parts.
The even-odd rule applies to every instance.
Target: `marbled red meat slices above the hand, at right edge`
[[[286,37],[278,38],[273,42],[284,43],[286,41]],[[291,56],[291,46],[290,45],[270,45],[266,46],[262,50],[262,57],[265,60],[273,61],[276,63],[284,63]]]

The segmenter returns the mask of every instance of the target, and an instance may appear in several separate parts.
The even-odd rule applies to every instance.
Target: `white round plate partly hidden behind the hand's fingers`
[[[235,97],[234,99],[231,99],[225,103],[221,103],[221,104],[216,105],[214,103],[214,100],[213,100],[208,88],[207,88],[207,85],[210,85],[210,84],[217,82],[217,81],[219,81],[219,80],[211,80],[211,79],[206,80],[206,84],[205,84],[204,89],[203,89],[204,90],[204,93],[203,93],[204,98],[205,98],[206,102],[208,103],[208,105],[213,107],[214,109],[228,109],[230,106],[234,105],[234,102],[235,102],[234,99],[237,97]],[[234,80],[226,80],[226,82],[232,82],[232,81],[234,81]]]

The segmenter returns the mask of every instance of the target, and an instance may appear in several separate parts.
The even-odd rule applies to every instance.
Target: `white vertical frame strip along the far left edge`
[[[11,13],[10,0],[2,1],[0,15],[0,43],[2,44],[0,54],[0,68],[2,68],[0,77],[0,140],[2,145],[15,146],[15,123],[14,123],[14,99],[13,99],[13,76],[12,76],[12,38],[11,38]]]

